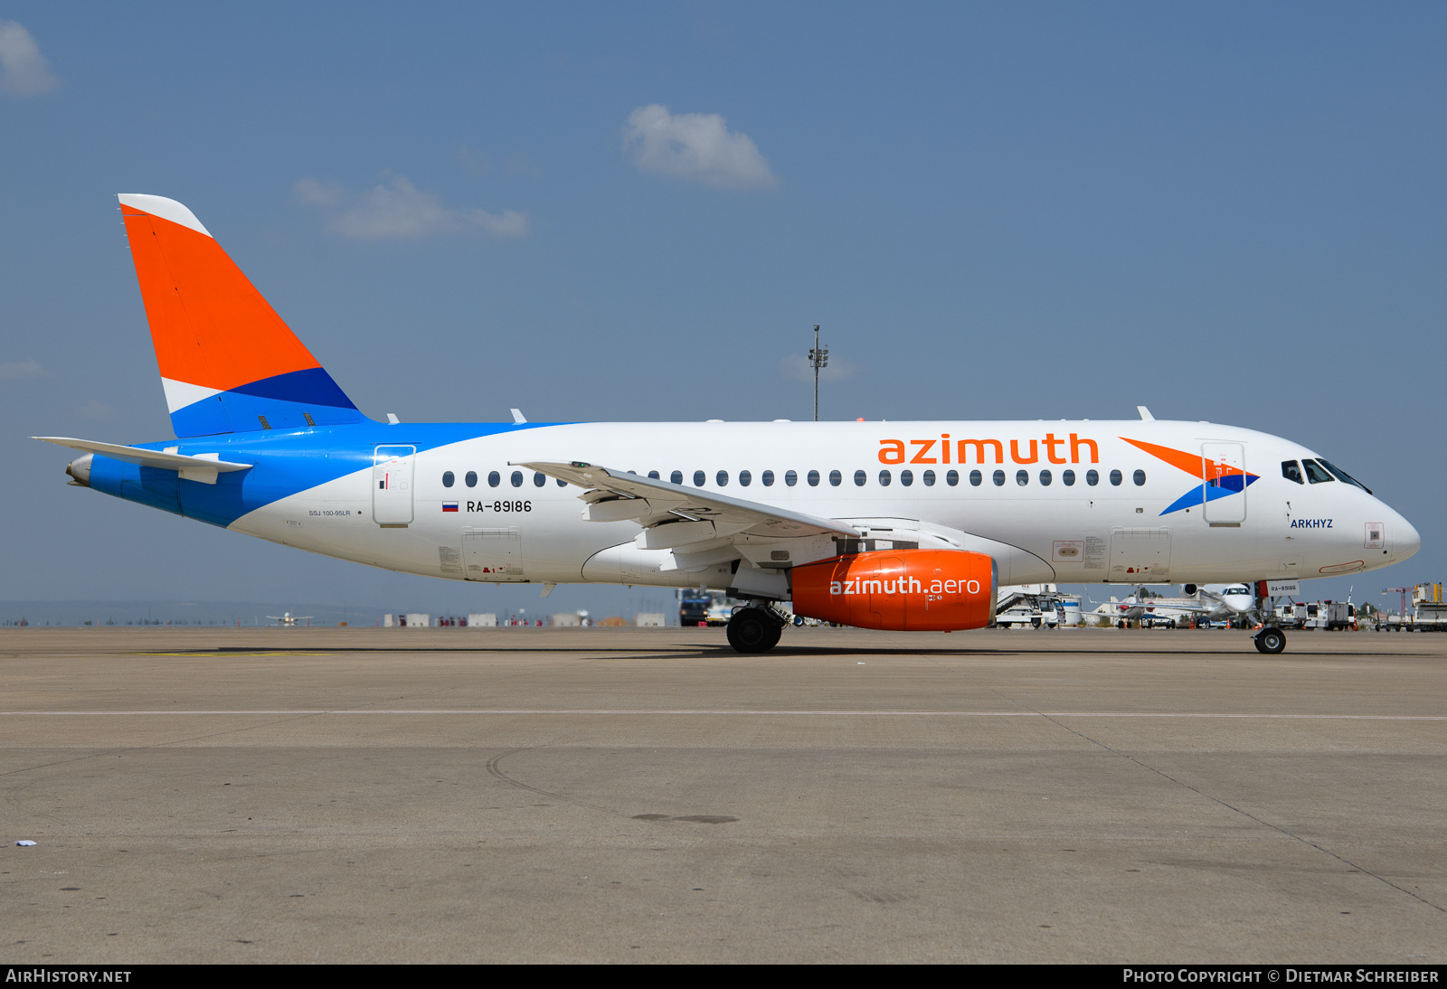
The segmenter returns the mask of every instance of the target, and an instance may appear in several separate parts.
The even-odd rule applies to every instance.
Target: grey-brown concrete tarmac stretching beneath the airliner
[[[4,629],[0,957],[1441,963],[1444,652]]]

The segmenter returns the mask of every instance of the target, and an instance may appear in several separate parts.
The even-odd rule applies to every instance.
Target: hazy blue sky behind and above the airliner
[[[123,191],[187,202],[378,418],[802,419],[819,322],[825,418],[1145,403],[1265,429],[1421,531],[1418,557],[1351,583],[1447,570],[1441,4],[0,20],[35,46],[0,30],[0,600],[476,610],[478,588],[67,489],[67,455],[25,440],[169,435]]]

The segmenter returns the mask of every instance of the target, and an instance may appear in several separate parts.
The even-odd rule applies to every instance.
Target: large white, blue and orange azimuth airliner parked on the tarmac
[[[765,652],[793,615],[994,622],[1032,583],[1376,570],[1417,529],[1299,444],[1214,422],[385,422],[363,416],[175,200],[120,195],[175,440],[36,437],[72,484],[444,580],[699,587]],[[1265,588],[1262,588],[1265,591]],[[1259,651],[1285,648],[1268,609]]]

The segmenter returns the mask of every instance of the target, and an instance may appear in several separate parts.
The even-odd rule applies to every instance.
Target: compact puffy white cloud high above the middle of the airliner
[[[628,114],[624,153],[644,172],[722,189],[767,189],[778,176],[748,134],[731,132],[716,113],[669,113],[654,103]]]

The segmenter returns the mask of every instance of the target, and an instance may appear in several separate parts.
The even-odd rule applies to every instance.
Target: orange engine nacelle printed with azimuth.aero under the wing
[[[994,620],[994,561],[962,549],[880,549],[793,568],[794,613],[894,632],[983,629]]]

